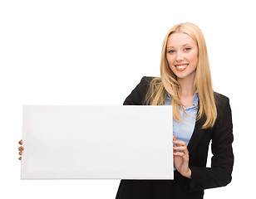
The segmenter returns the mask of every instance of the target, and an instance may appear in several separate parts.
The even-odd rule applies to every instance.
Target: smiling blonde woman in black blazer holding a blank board
[[[231,181],[229,99],[213,91],[199,27],[186,22],[170,29],[162,48],[160,75],[143,77],[124,104],[173,105],[175,179],[121,180],[116,199],[203,198],[204,189]],[[214,156],[211,167],[206,167],[210,141]]]

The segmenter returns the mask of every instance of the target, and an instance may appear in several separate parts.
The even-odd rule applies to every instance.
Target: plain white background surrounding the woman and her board
[[[205,198],[254,195],[255,17],[249,0],[1,1],[0,197],[115,198],[118,180],[20,180],[22,104],[122,104],[143,75],[160,75],[180,22],[204,32],[214,90],[233,110],[233,181]]]

